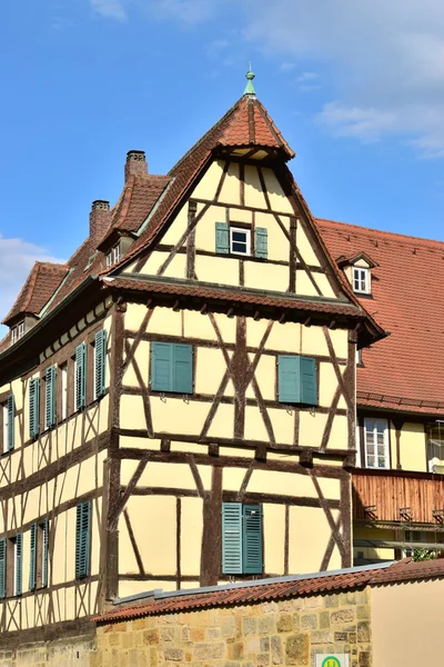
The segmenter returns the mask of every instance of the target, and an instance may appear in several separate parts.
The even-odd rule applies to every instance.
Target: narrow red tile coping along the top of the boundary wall
[[[404,581],[421,581],[444,578],[444,559],[414,563],[405,558],[387,567],[350,568],[339,573],[320,573],[304,577],[282,577],[268,581],[263,579],[251,586],[219,586],[212,590],[149,599],[137,605],[118,607],[108,614],[93,618],[99,625],[120,623],[143,616],[176,614],[218,606],[240,606],[325,593],[340,593]]]

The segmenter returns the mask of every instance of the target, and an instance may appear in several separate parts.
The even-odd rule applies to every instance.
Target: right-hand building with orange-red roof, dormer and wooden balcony
[[[444,549],[444,243],[317,220],[389,336],[357,359],[356,564]]]

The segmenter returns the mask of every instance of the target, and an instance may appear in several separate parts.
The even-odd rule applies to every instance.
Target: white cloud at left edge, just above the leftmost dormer
[[[0,321],[16,301],[34,261],[63,263],[64,260],[52,257],[46,248],[22,239],[6,239],[0,233]],[[7,331],[0,326],[0,337]]]

